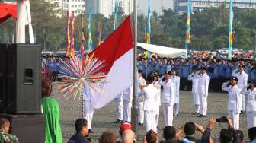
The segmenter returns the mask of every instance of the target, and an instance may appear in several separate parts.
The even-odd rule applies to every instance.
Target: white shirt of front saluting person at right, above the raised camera
[[[228,83],[222,84],[222,90],[228,91],[229,93],[229,103],[228,103],[228,110],[229,111],[240,111],[242,110],[242,94],[241,89],[238,85],[227,87]]]

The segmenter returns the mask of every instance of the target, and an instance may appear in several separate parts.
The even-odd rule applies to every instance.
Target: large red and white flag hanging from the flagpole
[[[95,109],[105,106],[133,84],[133,36],[130,17],[104,40],[93,52],[104,61],[101,72],[107,73],[108,84],[104,85],[104,95],[94,94],[92,103]]]

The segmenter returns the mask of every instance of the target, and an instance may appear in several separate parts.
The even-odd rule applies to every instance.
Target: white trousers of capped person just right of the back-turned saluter
[[[163,112],[165,118],[165,126],[172,126],[173,121],[173,105],[168,106],[168,103],[163,103]]]

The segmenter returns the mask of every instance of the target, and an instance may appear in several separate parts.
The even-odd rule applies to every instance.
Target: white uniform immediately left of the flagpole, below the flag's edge
[[[131,110],[133,106],[133,86],[123,91],[123,120],[131,122]]]

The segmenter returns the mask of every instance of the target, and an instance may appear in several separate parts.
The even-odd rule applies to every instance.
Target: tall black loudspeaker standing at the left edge
[[[5,47],[1,47],[5,46]],[[10,114],[36,114],[40,113],[41,98],[41,46],[34,44],[8,44],[0,45],[2,52],[0,61],[3,78],[1,93],[4,103],[2,113]],[[5,70],[4,70],[5,68]]]

